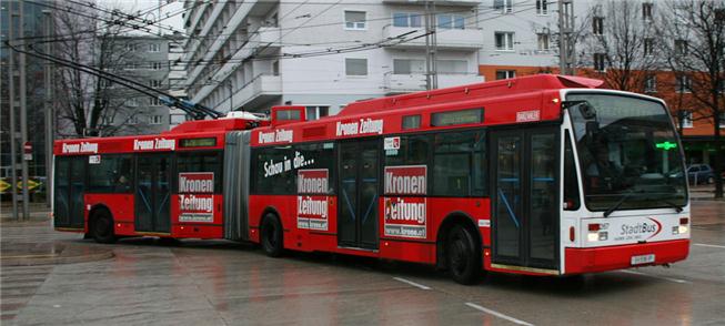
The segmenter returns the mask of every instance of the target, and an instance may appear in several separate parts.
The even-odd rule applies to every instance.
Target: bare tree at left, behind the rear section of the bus
[[[122,28],[103,23],[103,19],[95,19],[100,18],[98,14],[88,12],[78,16],[59,11],[56,14],[59,35],[54,40],[53,54],[111,74],[132,78],[131,69],[140,59],[129,50],[128,41],[121,41]],[[142,113],[137,105],[131,105],[142,95],[72,68],[57,69],[56,81],[59,135],[109,136],[143,128],[144,122],[127,123],[137,122]]]

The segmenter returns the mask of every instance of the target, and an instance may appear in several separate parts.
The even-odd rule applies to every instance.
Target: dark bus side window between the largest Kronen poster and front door
[[[435,135],[432,195],[482,196],[486,192],[484,131]]]

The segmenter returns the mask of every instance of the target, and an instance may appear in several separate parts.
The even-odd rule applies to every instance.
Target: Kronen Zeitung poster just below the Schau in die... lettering
[[[298,228],[328,231],[328,169],[298,170]]]

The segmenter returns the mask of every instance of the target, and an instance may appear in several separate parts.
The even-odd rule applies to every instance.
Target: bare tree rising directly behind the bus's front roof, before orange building
[[[661,67],[655,29],[637,0],[610,0],[595,6],[580,28],[580,73],[602,79],[608,88],[643,92]],[[591,68],[594,68],[593,70]]]

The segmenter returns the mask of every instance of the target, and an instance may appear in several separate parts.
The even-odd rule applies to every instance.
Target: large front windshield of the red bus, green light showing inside
[[[686,204],[682,152],[664,105],[612,94],[573,93],[566,100],[591,211]]]

